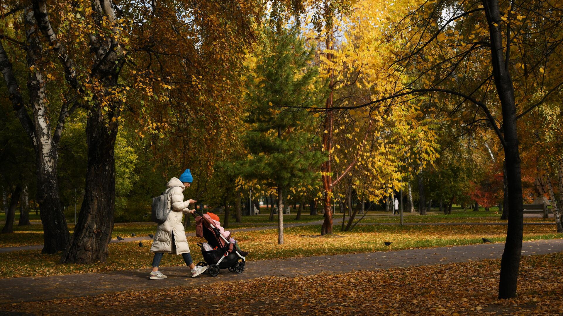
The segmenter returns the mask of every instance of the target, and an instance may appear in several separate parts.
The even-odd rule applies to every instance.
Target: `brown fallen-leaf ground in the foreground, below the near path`
[[[217,282],[17,303],[7,312],[128,315],[562,315],[563,253],[525,256],[519,296],[497,299],[499,260]]]

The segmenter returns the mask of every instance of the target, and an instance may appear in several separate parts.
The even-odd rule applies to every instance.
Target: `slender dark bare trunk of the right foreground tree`
[[[506,161],[508,182],[508,227],[506,243],[501,260],[501,278],[499,281],[499,299],[516,297],[518,270],[522,254],[522,233],[524,231],[524,200],[522,198],[522,175],[520,167],[520,152],[518,128],[516,124],[516,105],[514,98],[514,85],[510,67],[504,59],[505,52],[502,34],[501,14],[498,0],[482,0],[486,19],[489,25],[491,65],[495,87],[502,107],[502,133],[504,147],[504,161]],[[510,32],[510,30],[507,30]],[[506,52],[510,58],[509,52]],[[492,123],[491,124],[496,124]],[[499,138],[501,132],[497,132]]]

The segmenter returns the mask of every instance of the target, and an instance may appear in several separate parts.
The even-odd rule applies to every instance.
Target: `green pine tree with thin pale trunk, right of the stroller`
[[[297,30],[265,29],[265,43],[257,52],[248,78],[251,105],[246,142],[245,176],[278,192],[278,243],[283,243],[283,197],[318,181],[323,160],[314,136],[314,116],[291,106],[318,106],[323,85],[311,66],[314,48],[307,48]],[[282,106],[289,106],[283,110]]]

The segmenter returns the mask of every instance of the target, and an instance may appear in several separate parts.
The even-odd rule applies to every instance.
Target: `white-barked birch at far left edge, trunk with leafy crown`
[[[60,204],[57,150],[65,119],[78,108],[79,102],[72,91],[66,93],[63,92],[65,87],[48,84],[55,79],[52,71],[56,66],[52,58],[58,57],[67,63],[72,60],[68,60],[65,51],[57,51],[56,56],[52,56],[43,49],[42,24],[37,19],[36,7],[38,2],[2,5],[2,10],[6,11],[2,13],[5,23],[0,35],[0,70],[14,112],[34,147],[37,200],[44,230],[42,252],[52,254],[64,250],[70,236]],[[25,60],[25,64],[14,64],[15,60]],[[66,76],[75,81],[72,67]],[[21,89],[23,78],[27,80],[26,89]]]

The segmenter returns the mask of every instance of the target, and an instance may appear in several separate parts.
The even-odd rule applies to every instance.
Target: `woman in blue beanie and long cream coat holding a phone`
[[[154,235],[153,246],[150,251],[154,252],[153,272],[150,273],[150,279],[166,279],[166,276],[158,270],[160,260],[164,252],[169,254],[182,255],[184,261],[191,269],[191,276],[197,277],[207,270],[207,267],[195,267],[191,260],[190,247],[187,245],[186,232],[182,225],[182,215],[192,214],[194,210],[188,209],[190,203],[195,200],[184,201],[184,189],[189,187],[194,178],[190,169],[186,169],[180,178],[172,178],[166,184],[168,206],[170,213],[164,223],[158,225],[157,233]]]

